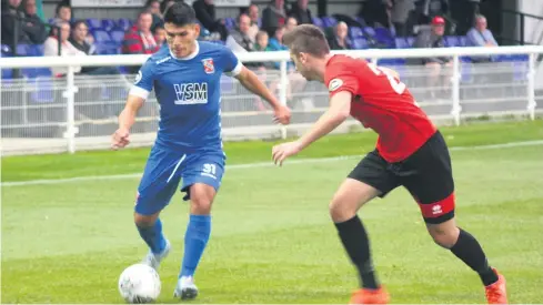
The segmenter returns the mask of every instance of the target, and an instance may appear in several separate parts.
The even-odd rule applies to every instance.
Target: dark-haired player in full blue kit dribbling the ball
[[[251,92],[267,100],[274,121],[288,124],[290,110],[283,106],[237,57],[223,45],[199,42],[200,26],[193,9],[177,2],[164,14],[168,47],[141,67],[112,149],[129,144],[129,131],[151,90],[160,104],[157,140],[138,187],[134,223],[150,251],[143,263],[158,270],[170,251],[162,233],[160,212],[169,204],[182,180],[181,192],[190,200],[190,218],[184,235],[184,255],[174,296],[198,295],[194,272],[211,232],[211,204],[221,184],[225,155],[221,139],[222,73],[237,78]]]

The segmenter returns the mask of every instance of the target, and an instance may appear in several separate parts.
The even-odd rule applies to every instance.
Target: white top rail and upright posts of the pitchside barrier
[[[514,90],[519,91],[524,91],[525,94],[517,94],[520,100],[523,100],[525,103],[525,106],[523,108],[524,110],[520,110],[515,108],[514,110],[510,109],[503,109],[499,112],[511,112],[511,113],[525,113],[530,115],[531,119],[535,118],[535,112],[536,112],[536,99],[537,96],[535,95],[536,88],[543,89],[543,78],[536,79],[536,68],[537,68],[537,57],[540,54],[543,54],[543,47],[541,45],[530,45],[530,47],[499,47],[499,48],[444,48],[444,49],[396,49],[396,50],[382,50],[382,49],[373,49],[373,50],[351,50],[351,51],[334,51],[335,53],[344,53],[349,54],[352,57],[360,57],[360,58],[365,58],[368,60],[371,60],[375,63],[379,64],[379,61],[382,59],[412,59],[412,58],[428,58],[428,57],[452,57],[453,58],[453,67],[452,67],[452,74],[450,75],[450,88],[449,91],[446,91],[449,95],[449,101],[450,104],[450,111],[448,114],[443,115],[440,114],[441,116],[446,116],[448,119],[452,119],[455,124],[460,124],[461,119],[464,116],[470,116],[471,115],[482,115],[486,114],[485,110],[483,111],[469,111],[466,113],[463,112],[462,105],[467,106],[470,101],[464,100],[461,102],[462,99],[462,92],[461,89],[466,89],[469,91],[469,87],[462,84],[461,87],[461,79],[462,79],[462,72],[463,72],[463,63],[461,62],[460,58],[461,57],[476,57],[476,55],[507,55],[507,54],[527,54],[529,55],[529,61],[524,62],[525,67],[521,70],[521,73],[525,73],[523,75],[523,81],[521,85],[515,85]],[[288,51],[280,51],[280,52],[252,52],[252,53],[240,53],[238,54],[240,60],[242,62],[267,62],[267,61],[274,61],[274,62],[281,62],[280,65],[280,72],[279,75],[279,98],[282,103],[286,103],[288,100],[288,85],[290,84],[289,80],[289,72],[288,72],[288,61],[290,60]],[[66,121],[61,125],[64,128],[64,133],[63,133],[63,139],[64,139],[64,145],[66,150],[69,151],[70,153],[73,153],[77,149],[77,135],[79,133],[78,123],[77,120],[77,113],[76,113],[76,94],[78,92],[78,80],[76,74],[73,73],[73,68],[74,67],[104,67],[104,65],[140,65],[142,64],[149,55],[94,55],[94,57],[63,57],[63,58],[57,58],[57,57],[51,57],[51,58],[2,58],[0,60],[0,68],[1,69],[23,69],[23,68],[53,68],[53,67],[68,67],[68,74],[66,82],[63,82],[62,87],[62,96],[66,98],[66,105],[63,105],[64,113],[66,113]],[[479,68],[481,67],[481,68]],[[422,68],[409,68],[405,71],[400,71],[402,74],[408,74],[406,78],[412,78],[413,74],[416,74],[419,72],[419,77],[424,77],[425,71],[421,70]],[[480,74],[496,74],[500,73],[503,69],[507,70],[510,68],[500,65],[496,63],[491,63],[491,64],[477,64],[477,69],[480,70]],[[500,70],[502,69],[502,70]],[[504,71],[505,71],[504,70]],[[507,71],[507,73],[511,73],[511,71]],[[404,75],[402,75],[403,78]],[[446,75],[449,77],[449,75]],[[542,75],[543,77],[543,75]],[[500,83],[499,81],[494,81],[496,87],[503,87],[503,83]],[[492,85],[492,80],[491,83],[487,85]],[[80,85],[79,85],[80,87]],[[513,87],[512,87],[513,88]],[[421,91],[426,91],[428,88],[419,88]],[[6,91],[6,89],[2,87],[2,90]],[[412,91],[418,90],[412,89]],[[314,93],[314,94],[313,94]],[[325,96],[325,89],[324,88],[318,88],[315,89],[315,92],[313,92],[313,95],[323,95]],[[423,92],[422,92],[423,93]],[[421,93],[421,94],[422,94]],[[418,94],[415,94],[415,98]],[[420,95],[420,94],[419,94]],[[505,96],[505,95],[503,95]],[[511,99],[511,98],[505,98],[505,99]],[[420,100],[418,98],[418,100]],[[490,102],[504,102],[505,100],[496,100],[496,99],[487,99]],[[521,101],[515,101],[515,103],[519,103]],[[122,99],[120,101],[117,101],[115,103],[122,104],[123,101]],[[479,103],[483,103],[482,101],[479,101]],[[424,102],[422,102],[422,105],[424,105]],[[428,105],[435,105],[432,103],[428,103]],[[28,108],[26,105],[26,108]],[[4,108],[6,109],[6,108]],[[8,108],[9,109],[9,108]],[[322,112],[325,109],[325,105],[322,108],[313,108],[311,110],[303,110],[299,111],[302,113],[319,113]],[[249,112],[243,112],[245,115],[251,115],[251,114],[261,114],[261,113],[249,113]],[[240,114],[240,113],[238,113]],[[24,114],[26,115],[26,114]],[[228,114],[227,114],[228,115]],[[231,114],[233,115],[233,114]],[[242,114],[243,115],[243,114]],[[147,118],[139,118],[138,120],[155,120],[155,116],[147,116]],[[309,124],[309,122],[301,123],[301,124]],[[3,124],[2,124],[3,125]],[[269,124],[267,128],[271,129],[278,129],[276,126],[273,126]],[[228,128],[227,128],[228,129]],[[284,138],[286,136],[286,128],[280,128],[278,131],[281,132],[281,136]],[[103,135],[102,135],[103,136]],[[6,146],[6,145],[2,145]]]

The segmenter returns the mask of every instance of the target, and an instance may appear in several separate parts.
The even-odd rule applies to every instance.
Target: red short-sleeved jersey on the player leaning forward
[[[365,60],[333,55],[324,84],[330,96],[352,93],[351,115],[379,134],[376,149],[388,162],[408,159],[436,131],[405,84]]]

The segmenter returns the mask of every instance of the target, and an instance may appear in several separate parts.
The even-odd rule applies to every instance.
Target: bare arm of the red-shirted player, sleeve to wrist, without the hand
[[[300,151],[341,125],[351,113],[351,100],[352,93],[349,91],[335,93],[330,100],[330,108],[326,112],[321,115],[309,132],[296,141]]]

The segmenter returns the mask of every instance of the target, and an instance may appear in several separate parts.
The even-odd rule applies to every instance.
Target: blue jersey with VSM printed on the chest
[[[175,58],[168,45],[141,67],[130,94],[147,99],[154,89],[160,105],[155,144],[185,152],[222,150],[221,75],[237,75],[241,62],[232,51],[197,42],[187,58]]]

